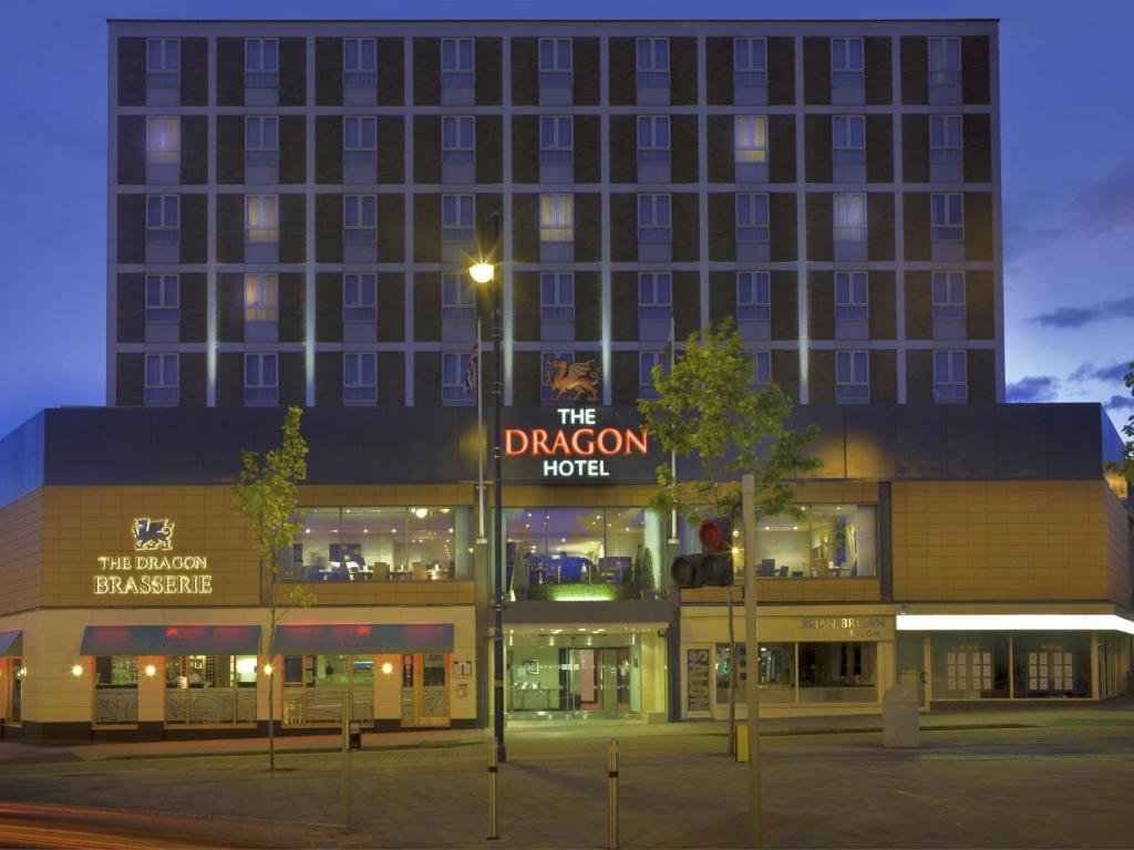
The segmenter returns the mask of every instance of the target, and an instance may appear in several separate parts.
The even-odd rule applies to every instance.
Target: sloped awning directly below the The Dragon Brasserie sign
[[[83,655],[256,655],[259,626],[87,626]]]

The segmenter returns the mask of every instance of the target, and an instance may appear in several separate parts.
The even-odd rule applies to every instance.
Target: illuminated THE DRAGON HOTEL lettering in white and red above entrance
[[[562,407],[556,415],[557,428],[505,428],[505,457],[541,459],[544,478],[607,478],[608,459],[649,453],[643,427],[599,427],[593,407]]]

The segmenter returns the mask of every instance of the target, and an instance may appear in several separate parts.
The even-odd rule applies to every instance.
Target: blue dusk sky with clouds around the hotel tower
[[[107,18],[465,18],[467,2],[9,2],[0,29],[0,435],[105,402]],[[1134,359],[1129,0],[481,2],[488,17],[999,18],[1008,399],[1101,401]],[[54,216],[54,218],[52,218]]]

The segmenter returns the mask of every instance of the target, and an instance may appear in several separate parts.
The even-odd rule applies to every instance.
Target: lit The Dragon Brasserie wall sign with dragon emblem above
[[[138,517],[130,525],[133,555],[101,555],[95,596],[208,596],[212,593],[204,555],[138,554],[174,551],[174,522]]]

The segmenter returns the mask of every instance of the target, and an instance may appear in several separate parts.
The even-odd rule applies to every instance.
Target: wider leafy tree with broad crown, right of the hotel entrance
[[[670,371],[654,366],[652,376],[658,398],[638,401],[648,428],[667,452],[697,461],[702,474],[700,479],[678,482],[670,465],[659,466],[652,508],[677,510],[691,524],[706,516],[728,517],[735,522],[741,512],[741,477],[752,473],[758,518],[797,511],[790,482],[819,468],[820,460],[804,452],[818,430],[813,426],[797,432],[790,427],[792,400],[775,382],[753,389],[753,360],[731,320],[691,334]],[[735,753],[737,665],[731,587],[728,626],[728,747]],[[758,663],[748,658],[748,664]],[[759,674],[750,681],[756,687]]]

